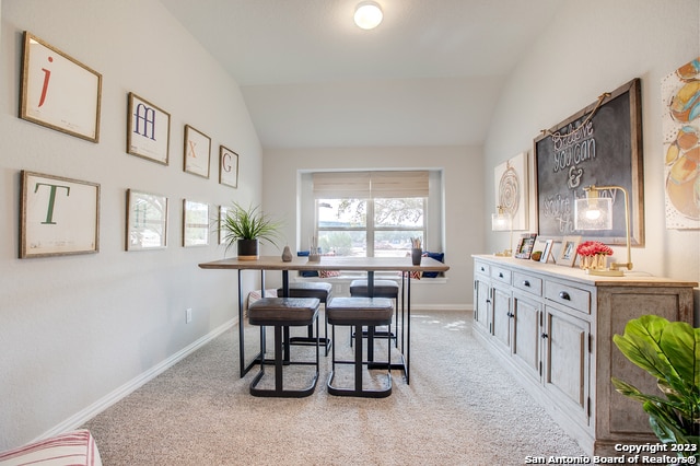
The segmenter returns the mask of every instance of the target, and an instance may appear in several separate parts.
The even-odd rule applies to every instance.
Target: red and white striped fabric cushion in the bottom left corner
[[[0,453],[0,466],[102,466],[95,439],[88,430],[62,433]]]

